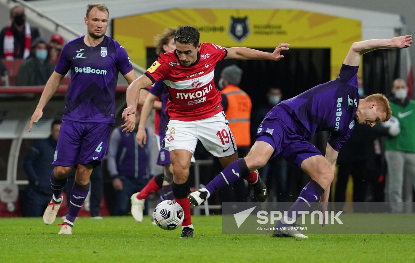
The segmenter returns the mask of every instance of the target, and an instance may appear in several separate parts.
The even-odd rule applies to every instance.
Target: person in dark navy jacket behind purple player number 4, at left
[[[48,205],[52,188],[50,187],[51,164],[56,150],[61,120],[54,120],[51,125],[51,135],[47,139],[36,140],[24,160],[24,171],[29,178],[27,191],[27,217],[40,217]]]

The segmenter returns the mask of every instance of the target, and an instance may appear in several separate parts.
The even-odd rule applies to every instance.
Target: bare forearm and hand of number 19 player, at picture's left
[[[123,131],[132,132],[135,127],[135,111],[137,110],[137,101],[139,98],[139,90],[150,86],[153,82],[146,75],[141,75],[138,79],[129,84],[126,92],[127,108],[122,111],[122,119],[125,121],[121,127],[125,127]],[[134,115],[129,117],[130,115]]]

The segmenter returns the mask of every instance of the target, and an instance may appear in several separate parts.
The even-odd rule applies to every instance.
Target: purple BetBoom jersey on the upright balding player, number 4
[[[68,41],[55,71],[71,70],[63,120],[81,123],[115,123],[115,89],[118,72],[133,68],[127,51],[108,36],[98,46],[87,46],[84,36]]]

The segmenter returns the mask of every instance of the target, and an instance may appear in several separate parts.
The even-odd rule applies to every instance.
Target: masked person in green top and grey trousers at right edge
[[[402,202],[412,201],[415,186],[415,101],[408,98],[408,86],[402,79],[393,81],[391,92],[392,116],[399,121],[400,133],[385,141],[386,201],[396,202],[391,203],[391,212],[403,212]]]

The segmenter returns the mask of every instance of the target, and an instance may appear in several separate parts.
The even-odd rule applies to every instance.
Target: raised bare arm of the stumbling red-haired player
[[[360,42],[354,42],[347,53],[343,64],[349,66],[358,66],[360,63],[360,55],[368,53],[375,49],[381,48],[408,48],[412,44],[412,36],[397,36],[393,39],[370,39]]]

